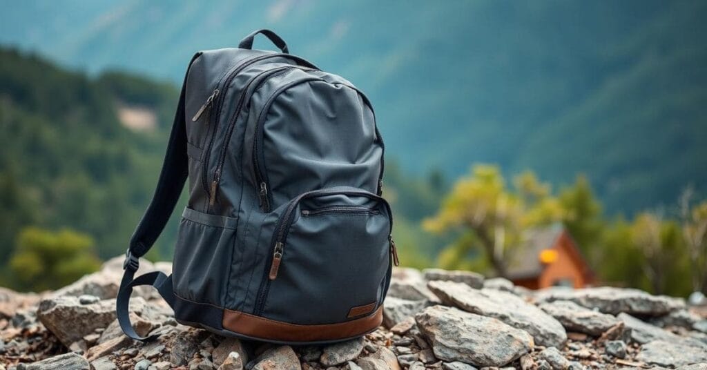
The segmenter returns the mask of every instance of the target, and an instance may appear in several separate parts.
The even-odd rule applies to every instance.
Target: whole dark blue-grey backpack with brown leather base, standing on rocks
[[[262,34],[281,52],[252,50]],[[352,83],[288,53],[271,30],[197,52],[158,185],[124,262],[117,316],[155,287],[182,324],[284,344],[360,337],[382,321],[392,265],[383,141]],[[133,279],[189,180],[173,273]],[[153,336],[154,337],[154,336]]]

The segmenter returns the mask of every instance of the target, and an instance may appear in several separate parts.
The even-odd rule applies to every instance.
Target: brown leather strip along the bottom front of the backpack
[[[223,328],[265,340],[282,342],[316,342],[346,339],[364,335],[382,323],[383,307],[369,316],[345,321],[344,323],[298,325],[270,320],[250,313],[223,310]]]

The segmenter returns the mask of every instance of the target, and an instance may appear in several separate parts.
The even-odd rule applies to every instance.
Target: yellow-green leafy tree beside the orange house
[[[534,174],[522,173],[506,187],[497,166],[477,165],[457,180],[437,214],[423,221],[434,233],[456,231],[458,237],[440,255],[448,268],[481,266],[470,262],[482,255],[499,276],[508,275],[508,258],[520,243],[522,231],[563,218],[559,200]]]

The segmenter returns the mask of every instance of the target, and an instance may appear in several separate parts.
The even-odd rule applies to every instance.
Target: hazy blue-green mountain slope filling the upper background
[[[585,173],[632,213],[707,195],[705,16],[658,0],[7,2],[0,43],[180,83],[194,51],[272,28],[368,93],[407,173]]]

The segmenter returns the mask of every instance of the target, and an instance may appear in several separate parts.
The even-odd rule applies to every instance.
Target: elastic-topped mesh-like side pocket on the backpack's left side
[[[177,296],[223,307],[237,221],[236,217],[184,210],[173,264]]]

